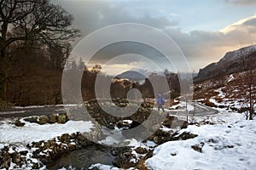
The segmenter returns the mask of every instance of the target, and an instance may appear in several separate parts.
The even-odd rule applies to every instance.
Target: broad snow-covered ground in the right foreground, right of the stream
[[[232,113],[229,116],[234,118],[233,122],[230,119],[228,123],[183,129],[180,133],[194,133],[198,137],[161,144],[146,165],[154,170],[255,169],[256,121],[236,122],[241,116]],[[192,146],[201,148],[201,152]]]

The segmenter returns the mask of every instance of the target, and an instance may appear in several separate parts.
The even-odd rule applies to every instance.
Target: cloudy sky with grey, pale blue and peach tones
[[[256,38],[256,0],[54,0],[54,3],[73,14],[74,25],[83,37],[113,24],[153,26],[177,43],[195,72],[217,62],[230,50],[255,43]],[[102,48],[94,62],[103,65],[111,56],[129,53],[144,55],[154,62],[158,60],[172,70],[170,65],[165,65],[165,59],[159,58],[161,54],[157,50],[127,42]],[[109,62],[106,70],[114,74],[143,69],[145,62],[134,57],[117,59],[116,63]]]

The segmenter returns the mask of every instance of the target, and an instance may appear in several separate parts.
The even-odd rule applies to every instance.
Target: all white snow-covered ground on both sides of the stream
[[[218,109],[218,114],[198,116],[194,121],[208,121],[213,125],[189,125],[179,133],[194,133],[198,134],[197,137],[160,144],[154,148],[154,156],[145,161],[145,165],[154,170],[234,170],[256,167],[256,120],[246,121],[243,114]],[[21,122],[23,121],[21,120]],[[0,149],[6,144],[25,146],[32,141],[53,139],[63,133],[90,132],[92,127],[91,122],[82,121],[44,125],[26,122],[24,127],[16,127],[10,120],[4,120],[0,122]],[[21,146],[20,148],[24,150],[24,147]],[[137,141],[132,141],[131,146],[152,148],[154,144],[138,144]],[[102,170],[119,169],[102,164],[92,167]]]

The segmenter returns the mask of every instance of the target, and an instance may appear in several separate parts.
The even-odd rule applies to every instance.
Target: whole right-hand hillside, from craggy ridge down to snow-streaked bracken
[[[256,110],[256,46],[228,52],[218,63],[201,69],[194,81],[194,99],[205,105],[248,114]]]

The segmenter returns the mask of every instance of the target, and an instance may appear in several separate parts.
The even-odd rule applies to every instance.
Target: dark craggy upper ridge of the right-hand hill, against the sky
[[[256,45],[226,53],[217,63],[212,63],[201,69],[197,77],[194,78],[194,82],[247,71],[249,68],[256,68]]]

